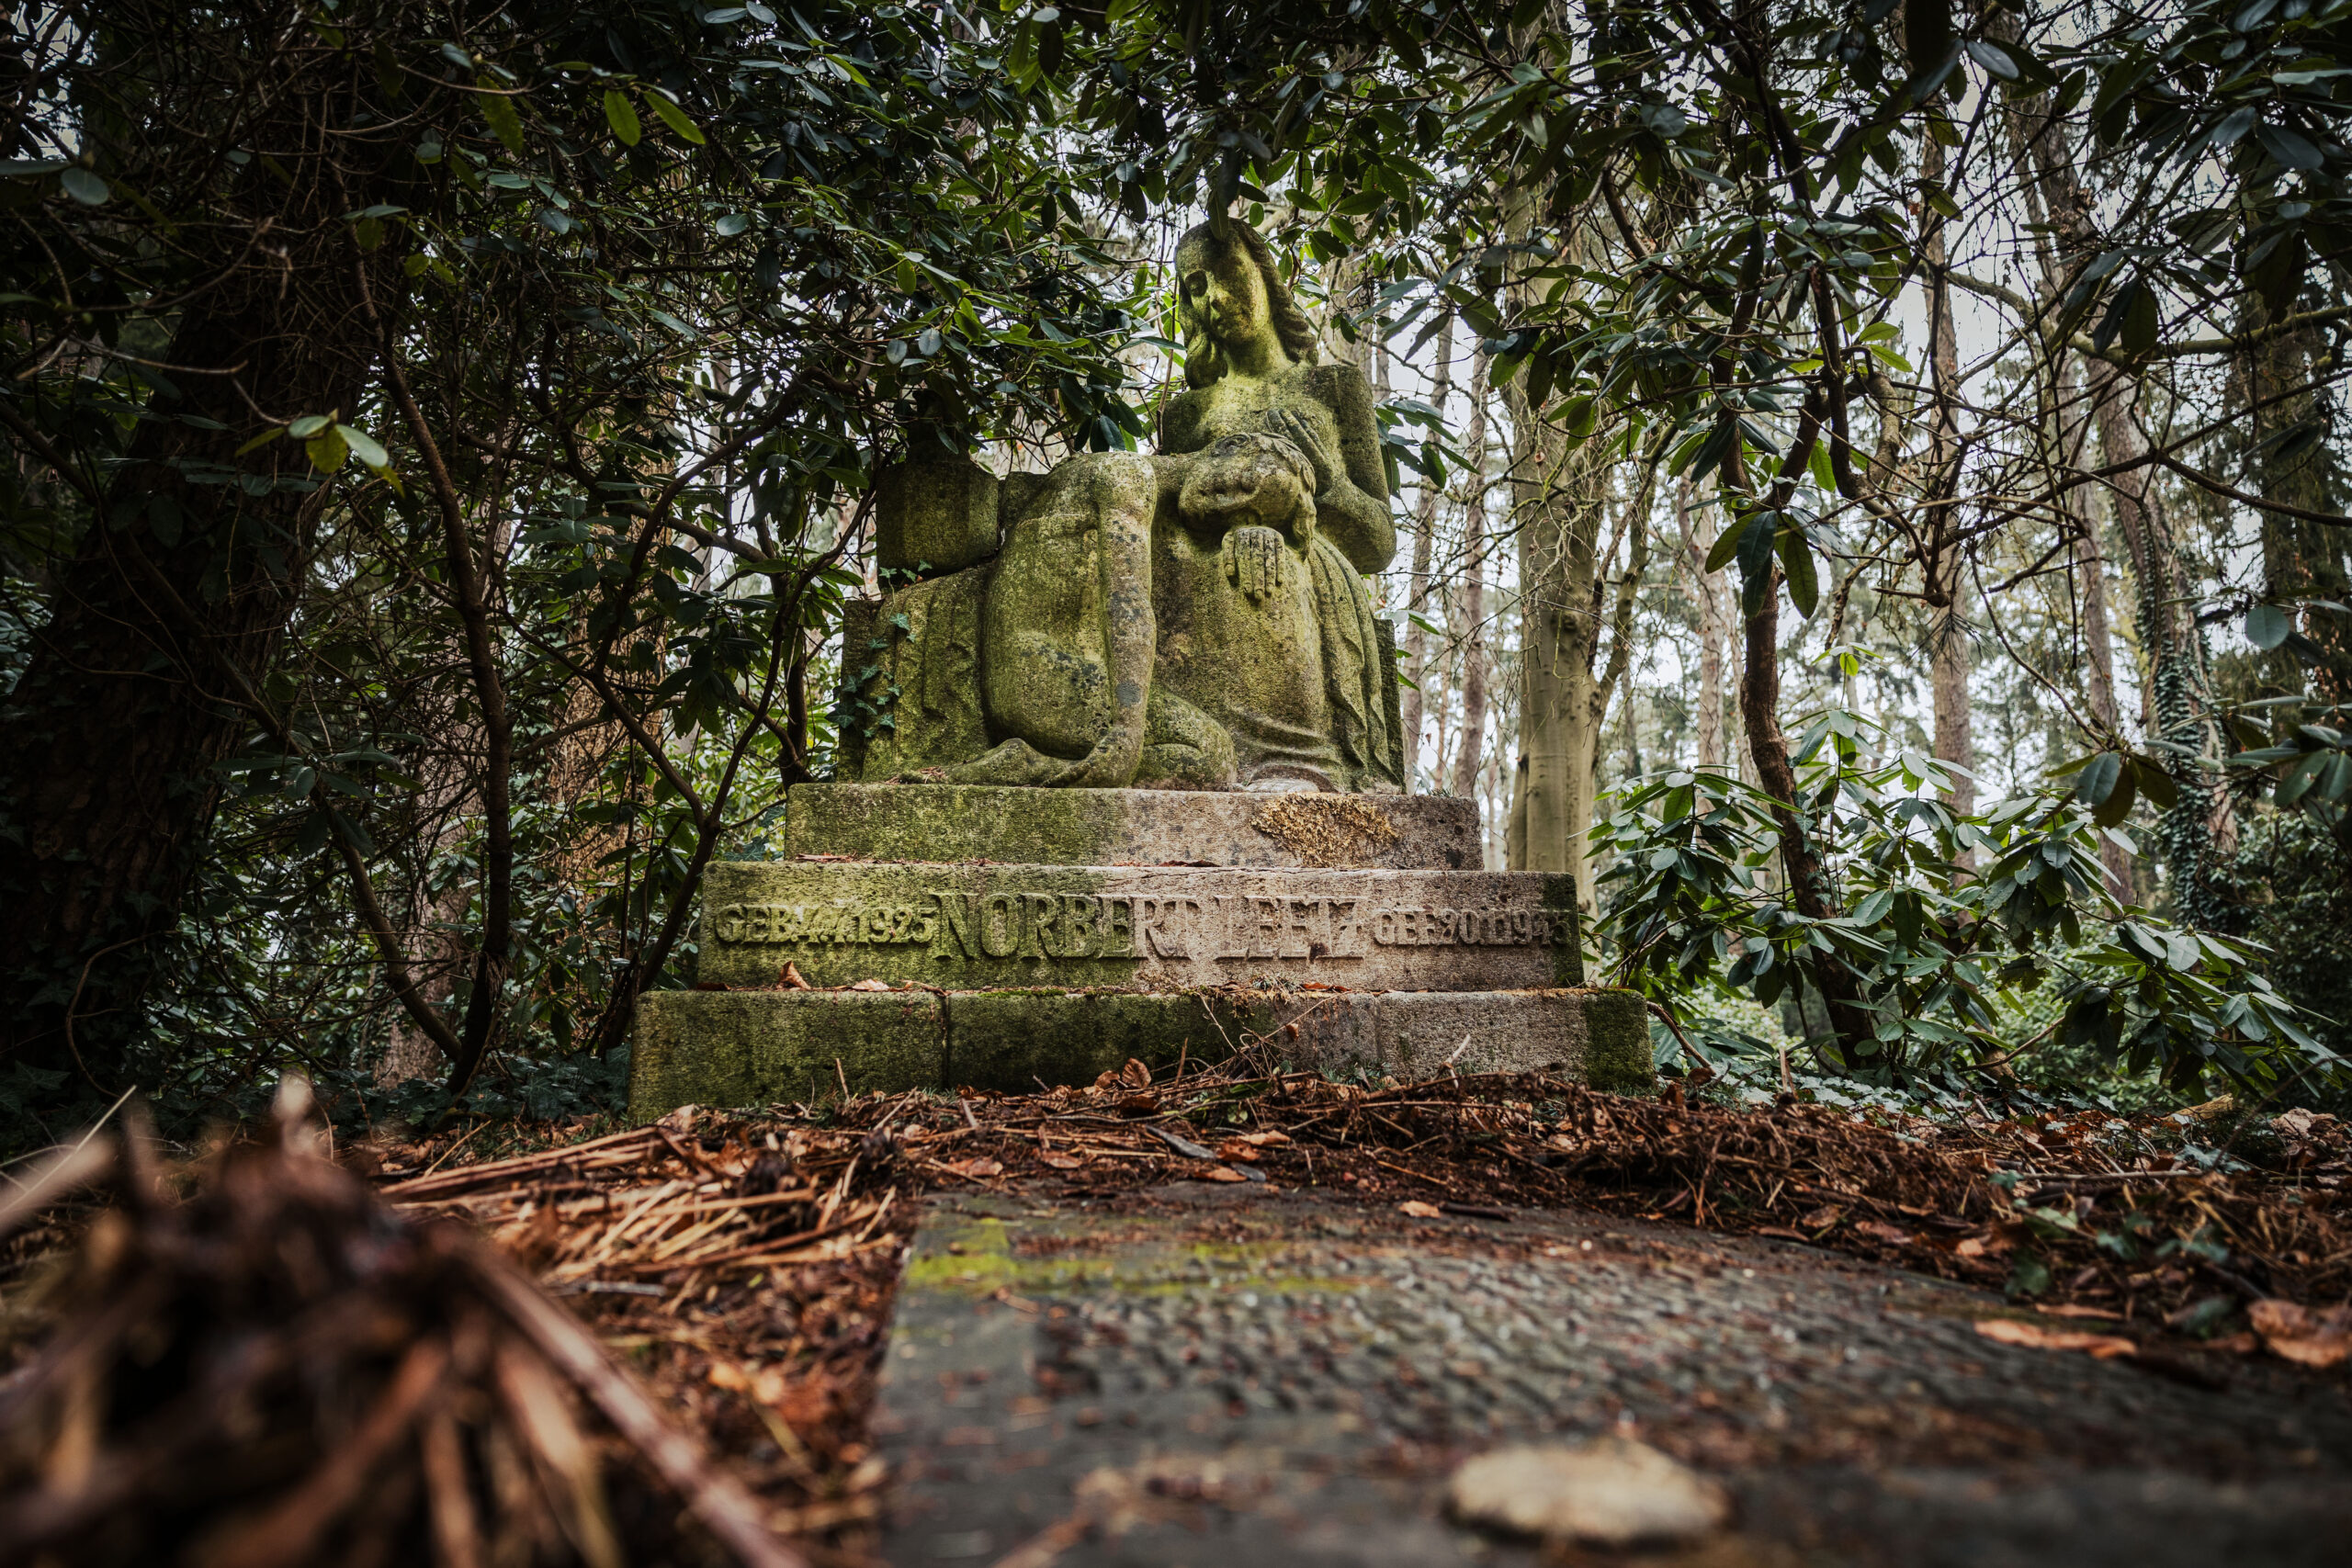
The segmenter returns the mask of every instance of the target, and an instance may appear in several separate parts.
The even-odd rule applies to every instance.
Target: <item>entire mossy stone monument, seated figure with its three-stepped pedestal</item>
[[[1265,242],[1176,252],[1160,451],[880,477],[891,583],[844,630],[842,766],[774,860],[713,865],[694,990],[647,992],[630,1114],[1181,1072],[1646,1086],[1642,999],[1583,990],[1569,877],[1489,872],[1399,792],[1395,531],[1371,388],[1319,364]]]

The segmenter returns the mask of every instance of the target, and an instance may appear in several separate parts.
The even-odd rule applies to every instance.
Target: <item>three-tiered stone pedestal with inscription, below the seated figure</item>
[[[802,785],[783,837],[710,867],[701,985],[637,1006],[633,1117],[1244,1048],[1651,1079],[1639,999],[1583,990],[1573,884],[1477,870],[1468,802]]]

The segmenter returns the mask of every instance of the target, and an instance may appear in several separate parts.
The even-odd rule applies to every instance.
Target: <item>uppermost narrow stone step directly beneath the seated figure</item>
[[[1352,811],[1348,811],[1352,809]],[[1362,830],[1357,813],[1385,825]],[[1479,870],[1477,804],[1439,795],[1244,795],[795,785],[786,853],[1028,865],[1362,865]],[[1317,832],[1317,818],[1329,816]],[[1392,837],[1390,837],[1392,835]]]

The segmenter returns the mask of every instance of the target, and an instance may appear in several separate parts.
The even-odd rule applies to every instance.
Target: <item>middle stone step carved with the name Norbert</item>
[[[1581,985],[1566,877],[1538,872],[729,860],[701,980],[1348,990]]]

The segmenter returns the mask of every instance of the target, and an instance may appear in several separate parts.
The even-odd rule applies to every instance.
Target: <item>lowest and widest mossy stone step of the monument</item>
[[[1653,1081],[1642,999],[1621,990],[1294,992],[654,992],[637,1001],[628,1110],[771,1105],[868,1088],[1091,1084],[1138,1058],[1428,1077],[1555,1072]],[[837,1063],[837,1065],[835,1065]]]

